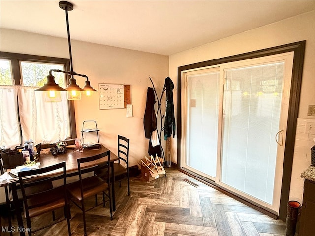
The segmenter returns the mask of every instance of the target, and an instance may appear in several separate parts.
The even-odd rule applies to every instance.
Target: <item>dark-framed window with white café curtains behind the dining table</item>
[[[32,139],[55,143],[76,137],[73,102],[62,92],[61,102],[44,102],[50,69],[67,70],[69,59],[1,52],[0,59],[0,146],[14,148]],[[54,73],[65,88],[67,77]]]

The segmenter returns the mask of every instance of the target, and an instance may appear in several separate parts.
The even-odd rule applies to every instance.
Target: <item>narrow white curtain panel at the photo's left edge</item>
[[[20,145],[16,86],[0,86],[0,146]]]

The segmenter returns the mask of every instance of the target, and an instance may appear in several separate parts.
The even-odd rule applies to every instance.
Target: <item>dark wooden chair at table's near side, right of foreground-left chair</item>
[[[101,171],[103,173],[107,173],[107,177],[110,179],[110,151],[108,150],[107,152],[97,156],[79,158],[77,159],[77,163],[79,180],[74,183],[70,183],[67,186],[67,189],[70,200],[82,210],[84,236],[87,236],[85,213],[101,204],[105,207],[105,195],[109,199],[110,219],[113,220],[112,199],[109,187],[110,183],[107,182],[107,180],[94,175],[95,172]],[[92,173],[93,176],[84,177],[83,174],[85,173]],[[94,207],[86,209],[84,206],[85,199],[99,193],[103,194],[103,202],[100,204],[96,203]]]

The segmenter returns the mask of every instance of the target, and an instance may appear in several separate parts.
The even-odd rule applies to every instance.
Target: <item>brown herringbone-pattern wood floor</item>
[[[131,195],[126,181],[116,186],[117,210],[109,218],[108,203],[87,212],[89,236],[284,236],[285,222],[226,196],[173,168],[167,177],[150,183],[131,178]],[[194,187],[184,178],[197,183]],[[100,197],[101,198],[101,197]],[[95,204],[95,198],[87,201]],[[71,206],[72,236],[83,235],[82,213]],[[62,212],[56,212],[56,217]],[[35,218],[33,227],[51,220],[51,214]],[[1,226],[7,225],[1,218]],[[14,222],[16,225],[16,222]],[[9,235],[1,232],[1,235]],[[13,234],[18,235],[17,232]],[[67,236],[66,221],[41,230],[35,236]]]

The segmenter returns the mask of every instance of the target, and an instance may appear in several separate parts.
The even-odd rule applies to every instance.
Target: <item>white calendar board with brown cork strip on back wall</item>
[[[126,108],[130,101],[130,85],[124,84],[98,84],[99,109]]]

